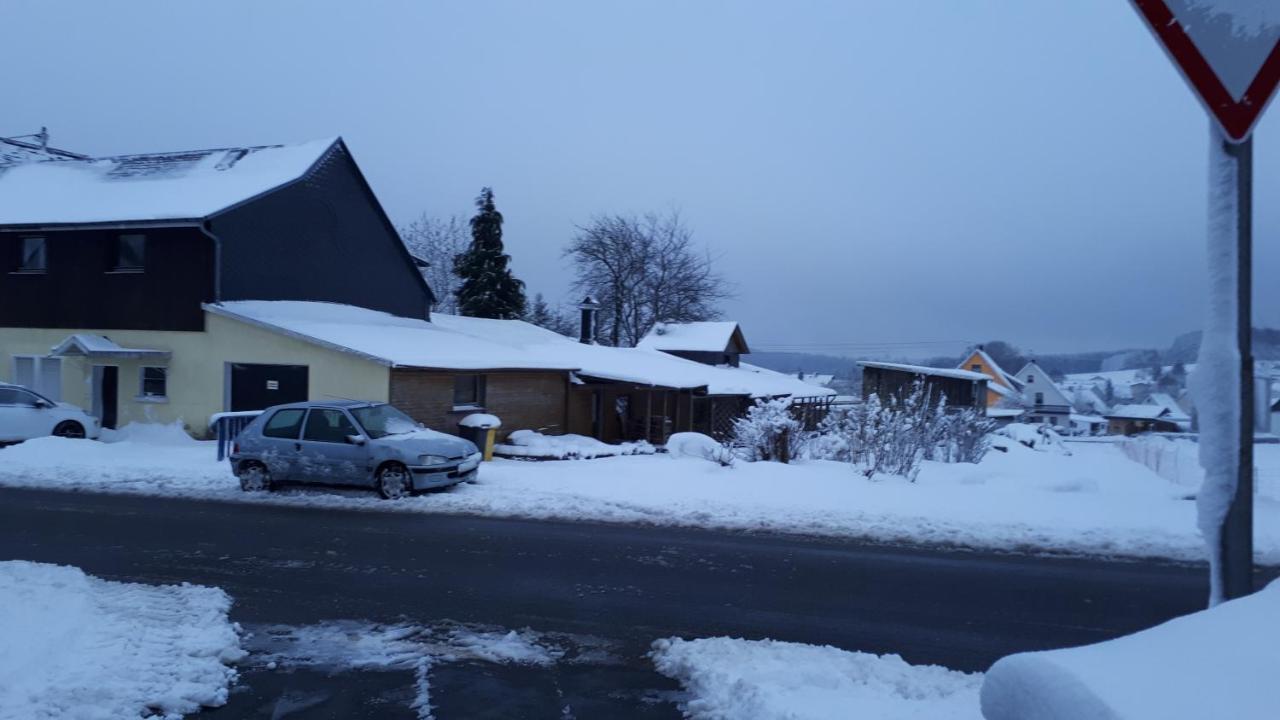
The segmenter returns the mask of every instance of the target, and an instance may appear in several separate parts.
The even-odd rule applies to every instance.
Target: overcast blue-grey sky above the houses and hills
[[[756,347],[1165,346],[1202,318],[1207,120],[1119,0],[9,0],[4,23],[0,135],[340,135],[397,223],[494,186],[517,274],[553,299],[576,223],[678,209]],[[1270,325],[1276,114],[1256,141]]]

